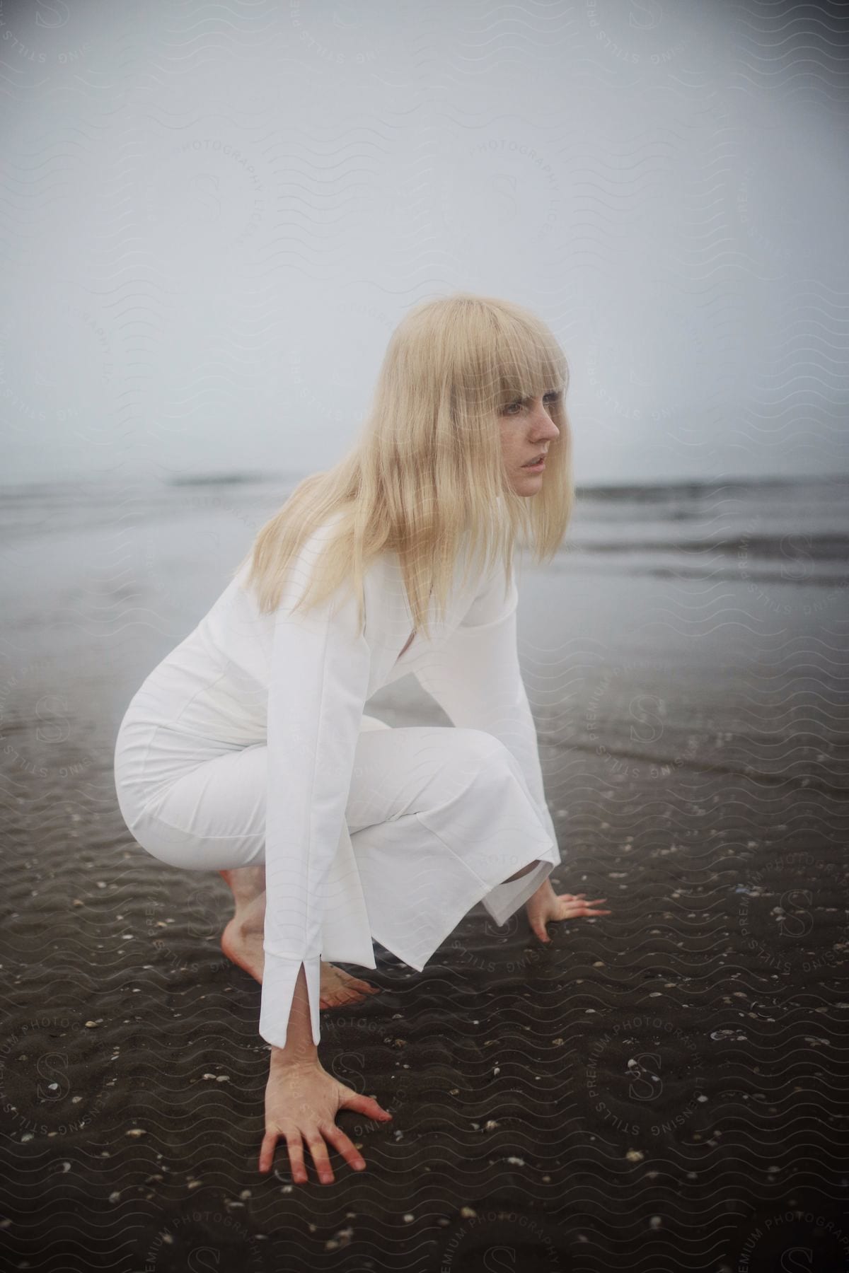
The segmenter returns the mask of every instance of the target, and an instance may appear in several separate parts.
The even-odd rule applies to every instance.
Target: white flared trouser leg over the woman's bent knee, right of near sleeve
[[[360,736],[346,821],[372,932],[414,967],[477,901],[505,923],[559,862],[518,763],[477,729]]]

